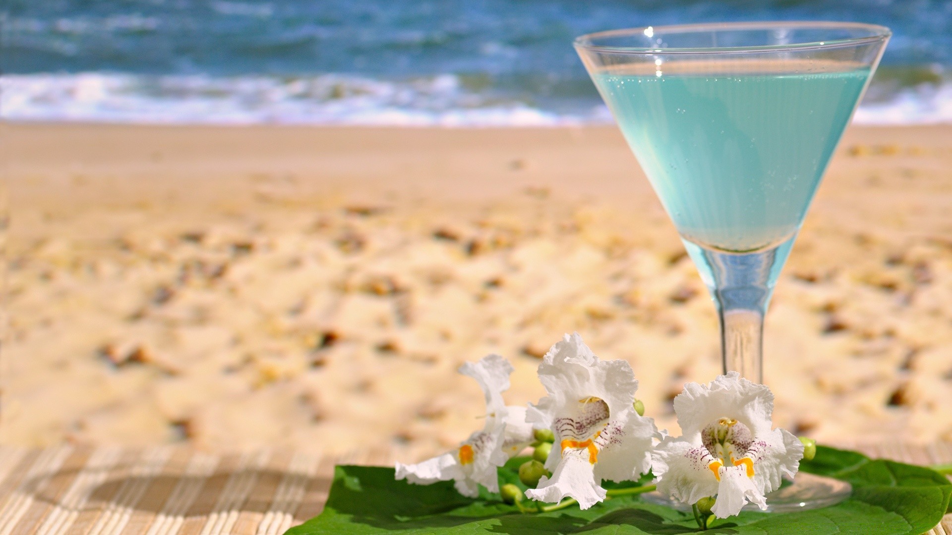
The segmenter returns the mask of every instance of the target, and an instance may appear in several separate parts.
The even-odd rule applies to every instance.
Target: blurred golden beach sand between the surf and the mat
[[[720,371],[705,288],[613,128],[6,126],[4,444],[390,448],[482,427],[455,369],[563,333],[647,415]],[[851,128],[766,320],[775,423],[952,440],[952,128]]]

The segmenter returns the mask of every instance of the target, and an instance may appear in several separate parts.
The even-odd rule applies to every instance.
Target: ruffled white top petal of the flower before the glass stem
[[[674,398],[674,411],[682,434],[693,440],[704,426],[730,416],[747,426],[754,436],[773,427],[773,393],[764,385],[741,377],[736,371],[721,375],[707,385],[688,383]]]

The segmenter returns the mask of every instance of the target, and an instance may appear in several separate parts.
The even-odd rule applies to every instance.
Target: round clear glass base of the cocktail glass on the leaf
[[[843,502],[853,492],[852,485],[838,479],[799,473],[789,485],[767,494],[767,512],[786,513],[819,509]],[[690,504],[682,504],[655,491],[642,495],[645,502],[667,505],[679,511],[690,511]],[[744,505],[744,511],[760,511],[754,504]]]

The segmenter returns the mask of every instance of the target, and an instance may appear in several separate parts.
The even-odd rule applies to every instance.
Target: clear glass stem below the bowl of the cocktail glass
[[[793,238],[777,248],[732,253],[685,242],[711,292],[721,320],[724,373],[764,383],[764,313]]]

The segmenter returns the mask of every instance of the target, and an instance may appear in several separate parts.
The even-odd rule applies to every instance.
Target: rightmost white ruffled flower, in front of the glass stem
[[[718,518],[741,512],[752,502],[766,509],[764,495],[793,477],[803,444],[773,429],[770,388],[736,371],[707,385],[688,383],[674,398],[681,437],[667,437],[652,454],[658,490],[685,504],[717,495]]]

